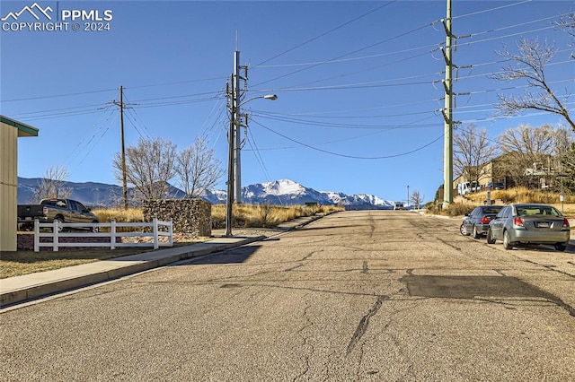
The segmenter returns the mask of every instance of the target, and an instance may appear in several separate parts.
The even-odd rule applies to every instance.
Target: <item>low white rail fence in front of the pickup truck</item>
[[[118,228],[125,227],[142,227],[151,228],[151,232],[118,232]],[[42,228],[51,228],[51,232],[40,232]],[[78,229],[97,229],[97,232],[66,232],[66,228]],[[102,228],[110,228],[110,232],[102,232]],[[160,230],[164,228],[164,230]],[[117,238],[145,238],[152,237],[153,241],[143,243],[121,243],[116,242]],[[160,238],[168,238],[166,241],[160,241]],[[52,238],[51,242],[40,242],[40,238]],[[110,240],[102,242],[82,242],[73,243],[60,242],[61,238],[109,238]],[[108,223],[68,223],[54,221],[52,223],[41,223],[38,219],[34,221],[34,252],[39,252],[40,247],[52,247],[57,251],[60,247],[172,247],[173,246],[173,225],[172,220],[158,221],[156,217],[151,222],[116,222],[114,220]]]

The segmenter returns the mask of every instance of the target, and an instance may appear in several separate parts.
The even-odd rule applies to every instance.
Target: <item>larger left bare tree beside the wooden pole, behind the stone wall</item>
[[[176,145],[170,141],[140,138],[137,146],[126,148],[126,178],[135,188],[136,198],[161,199],[167,195],[168,182],[175,174]],[[115,176],[122,182],[121,154],[112,161]]]

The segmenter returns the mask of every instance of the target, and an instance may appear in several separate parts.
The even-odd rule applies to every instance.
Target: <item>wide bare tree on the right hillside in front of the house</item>
[[[535,174],[552,175],[557,142],[553,126],[520,125],[503,132],[499,141],[505,172],[518,186],[535,187]]]

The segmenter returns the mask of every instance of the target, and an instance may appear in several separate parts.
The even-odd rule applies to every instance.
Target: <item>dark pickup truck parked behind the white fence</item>
[[[100,222],[84,204],[72,199],[42,199],[40,204],[18,204],[18,229],[33,230],[35,219],[40,222]]]

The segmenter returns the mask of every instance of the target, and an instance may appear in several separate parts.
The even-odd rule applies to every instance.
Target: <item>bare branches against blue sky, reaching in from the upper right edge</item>
[[[500,74],[492,77],[499,81],[526,80],[530,89],[534,91],[527,90],[520,96],[500,94],[498,109],[501,114],[514,116],[527,109],[542,110],[562,116],[575,132],[575,123],[566,107],[570,94],[566,94],[560,100],[545,78],[545,65],[555,56],[557,49],[553,44],[548,45],[546,41],[540,43],[539,39],[533,41],[520,39],[517,49],[517,54],[511,53],[507,47],[497,52],[509,61],[509,65],[503,67]]]

